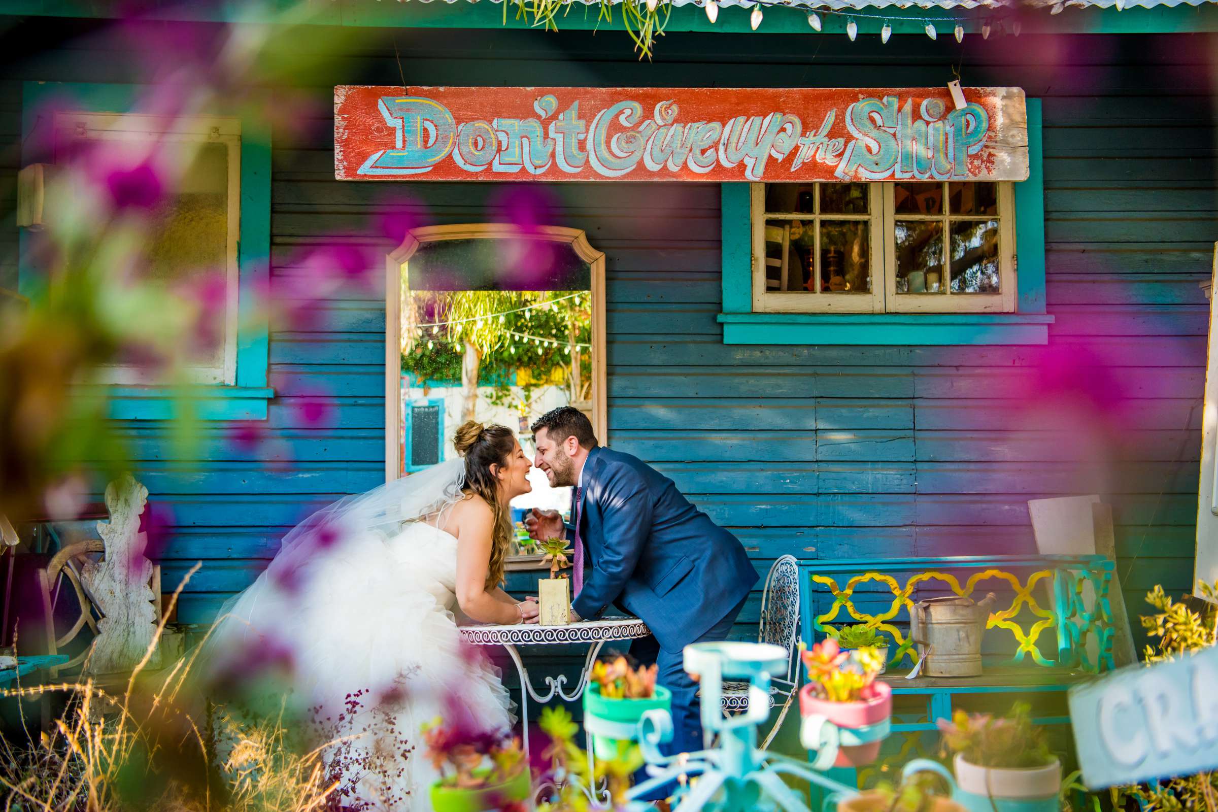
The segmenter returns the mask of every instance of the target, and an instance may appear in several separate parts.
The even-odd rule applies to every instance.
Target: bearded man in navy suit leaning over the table
[[[682,667],[691,643],[723,640],[756,571],[741,542],[681,495],[672,480],[636,457],[600,448],[582,411],[561,407],[532,424],[537,458],[553,487],[574,487],[571,525],[554,510],[525,519],[537,539],[572,541],[572,620],[610,604],[639,617],[652,637],[631,654],[657,662],[672,691],[672,752],[700,750],[698,685]]]

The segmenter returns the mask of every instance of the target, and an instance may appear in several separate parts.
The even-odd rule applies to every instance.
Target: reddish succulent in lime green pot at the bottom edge
[[[423,735],[428,758],[441,775],[431,785],[435,812],[530,808],[531,777],[520,739],[465,735],[438,718],[423,726]]]

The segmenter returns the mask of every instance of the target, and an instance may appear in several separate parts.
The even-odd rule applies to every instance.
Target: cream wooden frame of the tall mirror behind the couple
[[[519,239],[520,229],[510,223],[469,223],[412,229],[402,245],[385,256],[385,481],[401,477],[402,459],[398,427],[402,425],[402,274],[410,257],[424,242],[445,240]],[[543,225],[529,237],[565,242],[591,268],[592,291],[592,429],[600,444],[609,437],[608,392],[605,390],[605,256],[588,243],[580,229]]]

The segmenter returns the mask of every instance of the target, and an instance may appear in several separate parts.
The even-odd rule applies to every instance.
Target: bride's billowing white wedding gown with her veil
[[[365,494],[361,510],[342,508],[341,534],[312,545],[285,539],[268,571],[225,606],[229,620],[208,646],[290,653],[290,688],[318,709],[320,732],[361,734],[326,754],[343,780],[340,802],[420,812],[437,778],[420,726],[438,716],[490,732],[513,719],[498,668],[457,628],[457,539],[424,521],[393,521],[409,497],[390,495],[397,532],[385,532],[384,515],[368,520]]]

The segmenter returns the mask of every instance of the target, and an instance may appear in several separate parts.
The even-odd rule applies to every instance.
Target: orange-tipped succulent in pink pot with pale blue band
[[[799,691],[804,717],[800,740],[817,751],[814,766],[861,767],[875,761],[893,711],[893,689],[876,682],[883,666],[881,655],[875,649],[859,649],[851,656],[828,638],[804,651],[803,660],[808,684]],[[836,749],[826,746],[825,724],[838,728]]]

